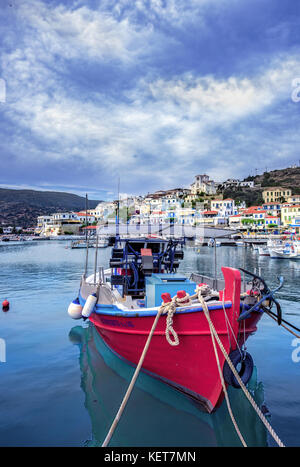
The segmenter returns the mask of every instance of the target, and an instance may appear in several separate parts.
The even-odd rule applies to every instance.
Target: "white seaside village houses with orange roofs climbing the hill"
[[[300,195],[288,188],[265,188],[261,206],[246,207],[245,202],[223,199],[224,186],[247,186],[253,182],[228,179],[216,183],[206,174],[196,175],[188,188],[174,188],[148,193],[146,196],[126,196],[119,203],[101,202],[95,209],[82,212],[60,212],[37,219],[36,234],[55,236],[79,234],[83,228],[119,221],[132,225],[223,225],[232,229],[266,230],[270,228],[300,228]],[[218,190],[217,190],[218,188]]]

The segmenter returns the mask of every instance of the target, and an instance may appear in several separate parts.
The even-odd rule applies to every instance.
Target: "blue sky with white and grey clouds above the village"
[[[0,21],[2,187],[109,199],[299,163],[298,0],[0,0]]]

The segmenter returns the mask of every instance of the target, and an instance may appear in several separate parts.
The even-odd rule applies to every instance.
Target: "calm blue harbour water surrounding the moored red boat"
[[[67,315],[76,297],[84,250],[68,242],[44,241],[0,248],[0,338],[6,362],[0,362],[0,444],[2,446],[101,445],[119,408],[133,369],[114,357],[94,329]],[[107,267],[109,249],[100,251]],[[241,266],[243,249],[217,249],[218,266]],[[259,257],[246,250],[246,268],[270,285],[283,275],[279,297],[284,315],[300,327],[300,261]],[[185,272],[212,274],[213,249],[186,249]],[[92,272],[92,265],[91,265]],[[219,271],[219,274],[220,271]],[[300,362],[292,360],[294,337],[264,316],[247,342],[256,371],[251,389],[265,402],[270,423],[287,446],[299,446]],[[299,352],[300,355],[300,352]],[[233,412],[248,445],[274,442],[242,391],[231,389]],[[180,427],[180,429],[178,429]],[[226,404],[214,414],[175,390],[140,375],[110,446],[239,446]]]

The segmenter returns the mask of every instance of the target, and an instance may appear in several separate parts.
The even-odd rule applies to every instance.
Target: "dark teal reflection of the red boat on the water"
[[[69,339],[80,349],[81,387],[91,418],[87,446],[101,446],[119,409],[134,368],[106,346],[90,324],[75,326]],[[254,368],[248,389],[261,408],[262,383]],[[243,392],[228,387],[233,414],[248,446],[267,446],[267,432]],[[241,446],[225,401],[211,414],[172,387],[140,373],[110,446]]]

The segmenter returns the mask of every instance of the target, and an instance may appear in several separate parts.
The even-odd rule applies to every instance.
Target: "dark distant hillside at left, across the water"
[[[100,200],[89,200],[93,209]],[[0,224],[29,227],[38,216],[62,211],[82,211],[85,198],[72,193],[0,188]]]

